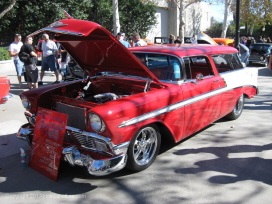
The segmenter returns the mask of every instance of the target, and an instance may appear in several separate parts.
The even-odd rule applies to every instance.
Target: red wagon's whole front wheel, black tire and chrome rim
[[[127,168],[142,171],[156,159],[161,145],[161,134],[155,125],[148,125],[137,131],[128,149]]]

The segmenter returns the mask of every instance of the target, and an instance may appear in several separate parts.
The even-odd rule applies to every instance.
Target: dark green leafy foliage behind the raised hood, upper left
[[[29,35],[52,22],[66,18],[64,10],[73,18],[90,20],[113,32],[113,0],[20,0],[1,18],[0,42],[9,44],[15,33]],[[0,1],[6,8],[7,2]],[[137,31],[143,36],[156,24],[156,5],[145,0],[119,0],[122,31]],[[119,26],[120,27],[120,26]],[[34,42],[35,43],[35,42]]]

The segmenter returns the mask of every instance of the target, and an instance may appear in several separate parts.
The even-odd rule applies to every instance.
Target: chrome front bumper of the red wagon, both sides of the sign
[[[73,129],[74,131],[76,131],[75,128],[71,128],[68,126],[66,128],[68,128],[68,131],[69,129],[70,130]],[[33,133],[34,133],[33,126],[30,123],[27,123],[24,124],[19,129],[17,137],[19,139],[26,140],[29,143],[29,145],[31,145]],[[85,132],[84,134],[87,133]],[[101,138],[102,137],[100,137],[100,139]],[[111,143],[111,141],[108,142]],[[76,146],[64,148],[62,153],[64,154],[64,160],[68,162],[71,166],[86,167],[89,174],[95,176],[104,176],[123,169],[127,162],[127,149],[129,146],[129,142],[125,142],[119,145],[114,145],[111,143],[110,146],[112,152],[114,153],[113,154],[114,157],[104,160],[95,160],[91,158],[89,155],[81,154],[81,152],[78,150]]]

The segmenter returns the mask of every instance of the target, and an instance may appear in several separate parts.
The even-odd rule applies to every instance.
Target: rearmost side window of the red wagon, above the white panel
[[[213,55],[212,58],[219,73],[243,68],[236,53]]]

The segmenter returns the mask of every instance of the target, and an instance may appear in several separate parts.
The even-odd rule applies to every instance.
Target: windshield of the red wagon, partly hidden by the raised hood
[[[163,54],[134,53],[134,55],[162,81],[179,81],[183,78],[178,58]]]

